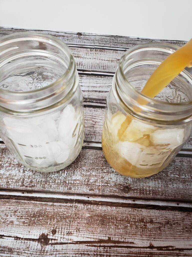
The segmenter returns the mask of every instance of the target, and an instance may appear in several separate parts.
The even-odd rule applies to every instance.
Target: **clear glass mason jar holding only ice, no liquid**
[[[41,33],[0,39],[0,135],[37,171],[60,170],[83,144],[83,97],[68,46]]]

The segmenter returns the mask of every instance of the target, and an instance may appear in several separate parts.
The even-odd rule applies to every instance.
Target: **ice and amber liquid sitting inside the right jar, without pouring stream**
[[[106,160],[125,176],[142,178],[158,173],[167,157],[183,143],[184,129],[161,130],[132,119],[119,140],[118,130],[125,120],[121,112],[105,120],[102,148]]]

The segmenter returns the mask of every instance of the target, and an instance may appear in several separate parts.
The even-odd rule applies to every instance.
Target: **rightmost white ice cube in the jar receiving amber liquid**
[[[156,130],[151,134],[153,144],[169,144],[174,148],[183,143],[184,130],[178,128]]]

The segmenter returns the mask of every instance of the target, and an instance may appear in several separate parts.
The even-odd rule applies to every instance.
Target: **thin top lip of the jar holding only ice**
[[[9,43],[9,42],[17,42],[18,40],[19,41],[24,41],[24,40],[29,40],[29,39],[36,40],[36,41],[41,39],[44,42],[51,42],[53,45],[60,48],[61,50],[64,48],[69,55],[69,65],[67,67],[67,70],[56,81],[50,83],[49,85],[47,85],[45,87],[30,90],[30,91],[22,91],[22,92],[5,90],[5,89],[0,88],[0,94],[24,96],[24,95],[32,95],[34,93],[36,94],[37,92],[43,92],[43,91],[45,91],[49,88],[54,87],[55,85],[60,83],[62,80],[66,79],[66,77],[69,75],[70,69],[73,67],[73,65],[75,65],[75,68],[76,68],[74,58],[73,58],[71,50],[67,46],[67,44],[65,44],[61,40],[59,40],[56,37],[54,37],[52,35],[49,35],[49,34],[44,34],[44,33],[40,33],[40,32],[17,32],[17,33],[13,33],[11,35],[3,36],[2,38],[0,38],[0,47],[4,44]]]

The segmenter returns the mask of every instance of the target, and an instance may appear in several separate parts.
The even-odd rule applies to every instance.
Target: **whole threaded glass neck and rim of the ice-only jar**
[[[50,48],[48,47],[45,50],[37,48],[37,51],[34,51],[33,48],[29,48],[26,51],[18,49],[17,52],[17,48],[19,48],[17,42],[22,41],[45,43]],[[76,63],[70,48],[61,40],[44,33],[19,32],[1,38],[0,47],[5,48],[2,51],[4,56],[0,62],[1,67],[9,63],[9,61],[16,60],[18,57],[34,55],[43,57],[52,55],[54,59],[66,65],[66,70],[63,70],[62,76],[45,87],[23,92],[0,89],[0,108],[3,112],[18,114],[24,112],[27,114],[46,110],[51,106],[53,108],[59,102],[68,102],[75,93],[79,83]],[[14,50],[13,53],[11,52],[12,50]]]

